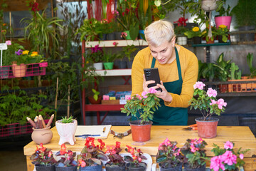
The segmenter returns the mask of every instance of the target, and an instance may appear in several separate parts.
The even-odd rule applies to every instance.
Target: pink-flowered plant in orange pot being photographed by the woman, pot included
[[[132,115],[137,120],[132,120],[129,125],[132,128],[132,140],[144,142],[150,140],[150,130],[152,125],[153,114],[160,106],[159,98],[154,94],[156,90],[149,88],[149,92],[142,92],[142,95],[134,95],[127,100],[122,113]],[[138,115],[137,115],[138,114]]]

